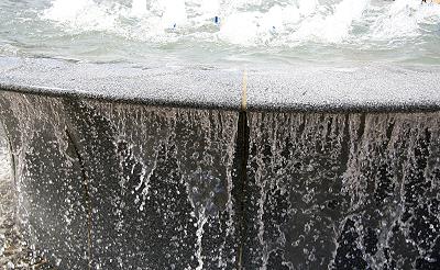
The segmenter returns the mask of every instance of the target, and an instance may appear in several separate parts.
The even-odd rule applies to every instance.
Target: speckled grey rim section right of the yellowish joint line
[[[249,110],[410,111],[440,105],[440,68],[298,65],[249,71]]]

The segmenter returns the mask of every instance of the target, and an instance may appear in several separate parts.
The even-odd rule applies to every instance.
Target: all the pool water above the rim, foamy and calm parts
[[[420,2],[3,0],[0,54],[91,61],[438,65],[440,5]]]

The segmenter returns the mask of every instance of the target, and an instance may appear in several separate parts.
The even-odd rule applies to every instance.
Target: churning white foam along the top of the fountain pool
[[[215,26],[213,18],[220,23]],[[241,46],[410,40],[440,22],[440,5],[419,0],[53,0],[42,18],[67,32],[106,31],[154,43],[187,36]],[[136,18],[136,21],[124,20]],[[356,25],[366,29],[353,31]]]

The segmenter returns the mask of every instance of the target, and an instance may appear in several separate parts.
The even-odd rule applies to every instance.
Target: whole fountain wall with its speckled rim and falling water
[[[440,263],[440,68],[0,58],[16,221],[61,269]]]

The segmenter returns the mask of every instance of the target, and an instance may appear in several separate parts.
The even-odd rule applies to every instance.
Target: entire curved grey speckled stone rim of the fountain
[[[0,57],[0,89],[233,111],[436,111],[440,67],[162,67]]]

